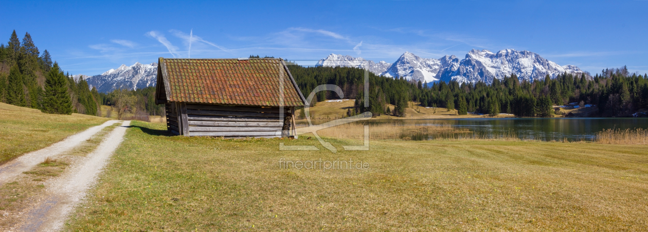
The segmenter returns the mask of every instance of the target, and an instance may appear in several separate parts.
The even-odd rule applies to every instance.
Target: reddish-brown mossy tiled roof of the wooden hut
[[[159,73],[167,100],[209,104],[303,106],[303,96],[280,59],[167,59],[159,58]],[[160,80],[158,80],[160,81]]]

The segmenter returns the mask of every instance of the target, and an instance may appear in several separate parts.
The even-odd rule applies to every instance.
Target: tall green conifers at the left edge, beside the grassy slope
[[[7,45],[0,43],[0,102],[45,113],[95,115],[97,94],[83,78],[65,74],[47,50],[41,54],[29,32],[21,41],[14,30]]]

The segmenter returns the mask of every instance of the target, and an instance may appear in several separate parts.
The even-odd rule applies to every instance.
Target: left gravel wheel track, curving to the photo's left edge
[[[67,152],[75,146],[80,145],[83,141],[90,139],[92,135],[100,132],[103,128],[106,128],[106,126],[111,126],[112,124],[115,124],[117,122],[119,121],[106,121],[104,122],[104,124],[93,126],[85,130],[84,132],[75,133],[74,135],[70,135],[62,141],[47,146],[46,148],[36,150],[34,152],[29,152],[5,163],[4,165],[0,165],[0,185],[13,180],[18,174],[27,172],[31,168],[36,167],[36,165],[43,162],[46,157],[56,156],[58,154],[62,154],[63,152]]]

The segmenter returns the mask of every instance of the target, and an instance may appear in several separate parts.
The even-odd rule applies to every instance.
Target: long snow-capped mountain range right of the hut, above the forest
[[[411,52],[405,52],[392,64],[330,54],[327,58],[319,60],[316,66],[368,67],[367,70],[376,75],[402,77],[421,82],[456,80],[459,83],[483,81],[487,84],[490,84],[494,78],[502,79],[511,73],[515,73],[520,81],[533,81],[546,75],[555,78],[562,73],[577,75],[583,73],[574,65],[561,66],[542,58],[537,53],[513,49],[505,49],[497,53],[472,49],[463,60],[459,60],[454,55],[439,59],[421,58]]]

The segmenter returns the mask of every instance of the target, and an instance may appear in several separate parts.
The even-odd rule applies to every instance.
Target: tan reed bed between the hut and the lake
[[[304,127],[306,124],[298,124],[297,127]],[[325,128],[318,131],[318,135],[324,137],[336,137],[340,139],[363,139],[364,124],[351,123]],[[399,122],[385,124],[371,124],[369,126],[369,139],[384,140],[406,140],[425,141],[434,139],[506,139],[518,140],[515,132],[503,133],[477,133],[468,129],[457,129],[451,124],[437,125],[404,125]]]

